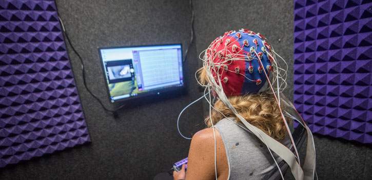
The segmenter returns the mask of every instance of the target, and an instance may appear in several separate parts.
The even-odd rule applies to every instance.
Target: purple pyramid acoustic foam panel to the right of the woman
[[[372,143],[372,2],[295,0],[294,102],[318,134]]]

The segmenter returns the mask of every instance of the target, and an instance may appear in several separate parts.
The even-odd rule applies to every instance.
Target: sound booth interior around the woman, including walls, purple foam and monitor
[[[265,35],[287,61],[283,94],[314,133],[319,179],[369,179],[371,7],[363,0],[1,1],[0,179],[168,172],[188,156],[177,120],[204,94],[195,79],[200,53],[241,28]],[[116,60],[119,53],[125,58]],[[205,100],[190,105],[180,131],[191,137],[204,129],[208,113]]]

